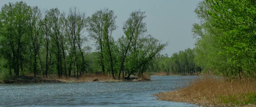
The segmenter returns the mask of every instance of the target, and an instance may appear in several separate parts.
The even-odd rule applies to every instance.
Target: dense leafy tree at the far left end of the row
[[[2,39],[1,42],[5,42],[7,45],[2,45],[1,48],[10,49],[11,52],[6,52],[9,55],[6,57],[11,58],[12,68],[16,76],[19,76],[20,66],[22,67],[22,54],[26,51],[27,31],[29,25],[29,19],[31,14],[31,7],[27,6],[25,2],[20,1],[14,3],[5,4],[1,8],[0,20],[2,26]],[[7,51],[7,50],[6,50]],[[8,61],[11,61],[8,60]]]

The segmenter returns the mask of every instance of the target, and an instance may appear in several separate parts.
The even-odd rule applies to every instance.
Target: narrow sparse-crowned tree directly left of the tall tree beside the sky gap
[[[69,14],[65,20],[66,35],[69,39],[69,44],[71,45],[71,54],[73,56],[74,65],[76,66],[74,70],[74,75],[79,78],[79,53],[82,59],[81,72],[85,70],[85,60],[84,51],[82,50],[82,44],[86,40],[86,37],[82,36],[85,30],[85,13],[80,12],[76,7],[70,8]],[[79,52],[77,52],[77,49]]]

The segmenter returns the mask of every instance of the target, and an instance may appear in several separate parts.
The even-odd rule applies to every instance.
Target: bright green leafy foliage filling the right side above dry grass
[[[255,77],[255,1],[204,0],[193,25],[195,62],[224,76]]]

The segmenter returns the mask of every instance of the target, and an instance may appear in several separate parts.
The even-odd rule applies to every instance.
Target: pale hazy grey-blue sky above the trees
[[[20,0],[0,0],[3,6],[8,2]],[[192,37],[192,24],[198,22],[194,10],[200,0],[23,0],[30,6],[41,9],[58,7],[59,10],[68,12],[69,8],[76,6],[84,11],[86,16],[91,16],[95,11],[104,7],[114,10],[116,25],[115,40],[123,34],[122,24],[135,10],[146,11],[144,20],[147,24],[147,34],[151,34],[162,42],[169,41],[162,54],[172,55],[188,47],[193,48],[195,40]],[[87,36],[87,33],[85,34]],[[94,42],[90,42],[93,44]],[[94,48],[93,48],[94,51]]]

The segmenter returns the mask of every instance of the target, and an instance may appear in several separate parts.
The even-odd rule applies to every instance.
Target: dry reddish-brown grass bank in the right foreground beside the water
[[[177,91],[155,94],[158,100],[189,102],[207,106],[256,105],[256,82],[250,79],[227,80],[216,76],[199,76]]]

